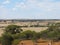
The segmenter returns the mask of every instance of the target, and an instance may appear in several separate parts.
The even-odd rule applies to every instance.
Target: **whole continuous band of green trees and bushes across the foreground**
[[[2,45],[17,45],[22,40],[32,40],[36,42],[41,38],[60,41],[60,23],[49,24],[48,29],[41,32],[23,31],[20,26],[8,25],[0,37],[0,43]]]

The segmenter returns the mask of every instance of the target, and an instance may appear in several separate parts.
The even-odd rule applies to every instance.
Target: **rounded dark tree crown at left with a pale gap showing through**
[[[20,28],[20,26],[17,26],[17,25],[8,25],[5,28],[5,32],[9,32],[11,34],[20,33],[21,31],[22,29]]]

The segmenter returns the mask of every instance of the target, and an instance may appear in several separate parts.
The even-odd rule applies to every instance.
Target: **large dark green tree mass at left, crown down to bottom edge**
[[[8,25],[2,35],[2,45],[12,45],[12,41],[19,39],[19,33],[22,31],[20,26]]]

